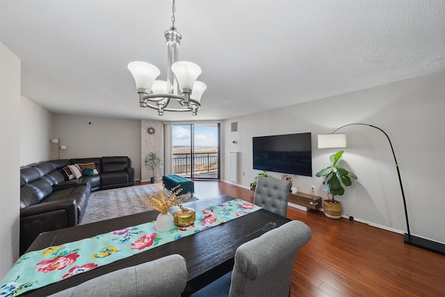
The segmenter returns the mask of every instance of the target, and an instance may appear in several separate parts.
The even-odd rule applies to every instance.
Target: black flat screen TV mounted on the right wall
[[[252,138],[253,168],[312,177],[311,133]]]

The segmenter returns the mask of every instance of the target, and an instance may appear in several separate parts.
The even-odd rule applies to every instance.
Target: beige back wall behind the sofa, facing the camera
[[[129,156],[140,179],[140,120],[54,114],[53,137],[67,146],[60,159]],[[53,145],[51,159],[57,158]]]

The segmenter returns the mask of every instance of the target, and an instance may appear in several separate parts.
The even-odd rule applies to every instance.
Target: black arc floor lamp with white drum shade
[[[405,208],[407,233],[405,233],[404,242],[407,244],[410,244],[412,246],[416,246],[418,248],[424,248],[426,250],[430,250],[432,252],[437,252],[441,255],[445,255],[445,245],[443,243],[438,243],[436,241],[430,241],[428,239],[423,239],[421,237],[412,235],[410,232],[410,222],[408,220],[408,212],[407,212],[407,207],[406,207],[405,192],[403,191],[401,172],[400,172],[400,169],[398,168],[396,153],[394,152],[394,147],[392,146],[391,139],[389,139],[389,136],[385,131],[383,131],[379,127],[375,127],[373,125],[364,124],[364,123],[353,123],[353,124],[344,125],[344,126],[339,127],[338,129],[335,129],[334,131],[332,131],[331,134],[318,134],[318,148],[346,147],[346,134],[336,134],[335,132],[337,132],[341,128],[352,126],[352,125],[363,125],[363,126],[368,126],[368,127],[378,129],[383,134],[385,134],[385,136],[389,142],[389,146],[391,147],[391,152],[392,152],[392,155],[394,156],[394,162],[395,162],[396,168],[397,168],[398,182],[401,186],[403,207]]]

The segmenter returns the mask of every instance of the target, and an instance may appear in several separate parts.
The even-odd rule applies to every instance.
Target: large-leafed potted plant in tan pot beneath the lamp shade
[[[331,166],[320,170],[316,173],[316,177],[324,177],[323,190],[327,193],[327,200],[323,200],[323,209],[325,211],[325,216],[328,218],[340,218],[343,213],[341,207],[341,202],[335,200],[336,195],[343,195],[345,193],[345,188],[343,186],[350,186],[353,184],[351,178],[357,179],[357,176],[353,172],[341,168],[339,162],[341,161],[341,156],[343,156],[343,150],[332,154],[330,156]],[[330,194],[332,197],[330,197]]]

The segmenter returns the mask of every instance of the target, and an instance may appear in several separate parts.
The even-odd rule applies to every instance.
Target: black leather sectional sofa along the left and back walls
[[[95,171],[83,169],[73,178],[67,168],[74,164]],[[20,255],[40,233],[79,225],[92,191],[134,184],[127,156],[52,160],[20,168]]]

